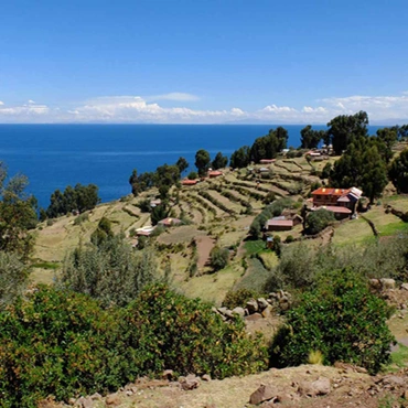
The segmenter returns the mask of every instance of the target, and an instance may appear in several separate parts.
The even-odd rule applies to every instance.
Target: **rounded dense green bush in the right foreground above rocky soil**
[[[287,314],[271,346],[272,364],[293,366],[320,351],[325,364],[336,361],[376,374],[390,361],[395,341],[386,320],[389,308],[353,270],[329,273]]]

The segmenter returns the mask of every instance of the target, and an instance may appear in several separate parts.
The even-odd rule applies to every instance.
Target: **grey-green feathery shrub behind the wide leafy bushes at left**
[[[135,253],[121,236],[99,245],[80,245],[63,265],[58,284],[98,299],[105,307],[125,305],[157,279],[155,256],[151,248]]]

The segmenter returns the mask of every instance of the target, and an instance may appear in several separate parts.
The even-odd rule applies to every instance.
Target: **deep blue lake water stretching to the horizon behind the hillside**
[[[288,146],[300,144],[304,125],[283,125]],[[23,173],[40,206],[54,190],[94,183],[103,202],[130,193],[132,169],[138,173],[173,164],[182,155],[191,169],[198,149],[212,159],[230,155],[264,136],[273,125],[0,125],[0,161],[9,174]],[[313,126],[324,129],[324,126]],[[375,132],[378,127],[371,127]]]

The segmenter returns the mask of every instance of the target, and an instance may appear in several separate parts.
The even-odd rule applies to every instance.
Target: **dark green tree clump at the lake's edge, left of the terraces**
[[[68,185],[63,193],[60,190],[55,190],[51,194],[46,216],[55,218],[74,210],[84,213],[95,208],[99,202],[98,187],[95,184],[82,185],[78,183],[74,189]]]

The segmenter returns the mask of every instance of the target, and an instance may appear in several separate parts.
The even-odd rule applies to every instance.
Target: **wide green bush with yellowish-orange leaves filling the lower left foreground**
[[[49,395],[116,390],[138,376],[208,373],[224,378],[264,369],[261,336],[224,323],[200,300],[165,286],[143,290],[128,308],[41,288],[0,313],[0,406],[35,407]]]

